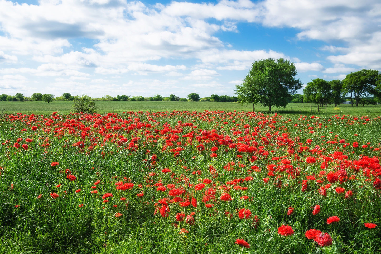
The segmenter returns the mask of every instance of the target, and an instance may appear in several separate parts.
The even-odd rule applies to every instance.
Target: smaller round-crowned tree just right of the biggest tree
[[[312,102],[323,106],[328,104],[332,98],[331,85],[327,80],[314,79],[308,82],[303,89],[303,96],[304,102]]]

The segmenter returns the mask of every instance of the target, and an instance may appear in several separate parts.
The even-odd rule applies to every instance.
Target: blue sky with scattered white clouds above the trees
[[[305,86],[381,71],[380,41],[379,0],[0,0],[0,94],[233,96],[266,58]]]

